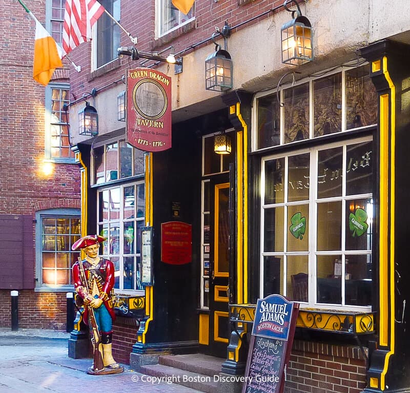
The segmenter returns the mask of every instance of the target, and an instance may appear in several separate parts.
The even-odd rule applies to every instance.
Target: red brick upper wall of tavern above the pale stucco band
[[[138,2],[133,0],[122,0],[121,25],[134,37],[138,38],[138,44],[136,47],[139,51],[160,51],[172,44],[175,52],[178,53],[193,44],[197,44],[204,39],[210,38],[212,33],[215,32],[215,26],[222,28],[226,20],[230,26],[235,26],[245,20],[251,19],[254,16],[260,15],[281,5],[283,5],[283,0],[251,1],[242,6],[238,6],[238,0],[227,0],[217,3],[208,0],[196,0],[195,23],[188,25],[189,27],[186,25],[185,27],[173,31],[159,39],[155,39],[154,2],[152,0],[139,0]],[[276,12],[286,11],[284,11],[283,8],[280,8]],[[256,24],[262,18],[271,17],[272,15],[272,13],[268,13],[238,29],[243,29],[251,24]],[[122,31],[120,34],[121,46],[132,46],[130,38]],[[113,70],[113,64],[109,64],[107,67],[103,67],[97,72],[90,74],[90,50],[91,44],[86,43],[75,48],[70,54],[70,57],[74,62],[78,61],[78,64],[81,64],[83,70],[80,73],[77,73],[72,68],[70,69],[71,86],[73,87],[76,97],[81,97],[84,93],[90,92],[92,88],[98,89],[117,81],[130,67],[129,58],[125,57],[114,62],[118,67]],[[191,51],[191,49],[188,50],[188,52],[189,51]],[[167,55],[168,53],[165,52],[164,54]],[[142,59],[140,61],[142,61]],[[131,67],[138,67],[140,61],[132,61]],[[146,66],[148,64],[150,63],[146,63]],[[105,70],[107,71],[106,73],[104,73]]]

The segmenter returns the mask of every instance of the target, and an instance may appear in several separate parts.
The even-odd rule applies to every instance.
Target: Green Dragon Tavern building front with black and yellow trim
[[[200,351],[226,358],[222,373],[242,375],[252,307],[279,293],[301,304],[289,393],[408,388],[410,120],[400,56],[410,26],[405,12],[391,12],[402,5],[298,2],[315,58],[291,68],[281,63],[280,28],[291,19],[282,1],[197,0],[188,18],[168,0],[101,3],[138,37],[138,51],[167,55],[172,45],[183,58],[182,73],[117,58],[115,47],[132,47],[130,39],[103,19],[93,42],[72,52],[81,72],[70,69],[70,111],[87,100],[99,115],[95,137],[78,135],[78,118],[70,120],[83,164],[83,231],[108,237],[101,253],[118,272],[115,356],[138,369],[152,354]],[[175,25],[165,23],[170,15]],[[233,86],[218,93],[205,89],[204,61],[226,22]],[[117,97],[137,67],[172,80],[167,151],[126,143]],[[232,154],[219,157],[213,136],[222,132]],[[192,225],[189,263],[163,261],[161,227],[170,221]],[[298,225],[303,236],[291,231]],[[141,226],[154,232],[146,286]]]

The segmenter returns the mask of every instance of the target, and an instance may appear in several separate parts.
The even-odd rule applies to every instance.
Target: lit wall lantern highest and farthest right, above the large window
[[[297,11],[290,10],[287,3],[296,4]],[[292,20],[285,23],[281,31],[282,63],[300,66],[312,61],[313,56],[313,32],[309,19],[302,16],[299,4],[296,0],[285,0],[283,7],[292,12]],[[296,15],[296,17],[295,17]]]

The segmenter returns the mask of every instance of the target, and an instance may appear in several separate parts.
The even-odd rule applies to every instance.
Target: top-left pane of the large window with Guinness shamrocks
[[[285,159],[265,161],[265,204],[284,202]]]

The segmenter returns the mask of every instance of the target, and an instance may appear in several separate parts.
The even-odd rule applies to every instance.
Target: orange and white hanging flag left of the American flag
[[[36,17],[31,12],[30,14],[35,20],[33,78],[38,83],[47,86],[54,70],[63,67],[61,62],[63,51]]]

